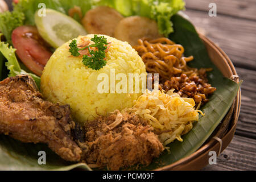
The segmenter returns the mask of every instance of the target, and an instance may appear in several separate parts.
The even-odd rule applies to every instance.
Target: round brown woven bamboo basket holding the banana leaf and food
[[[205,46],[207,47],[208,54],[213,63],[220,69],[225,77],[231,78],[232,80],[239,82],[239,77],[237,76],[236,69],[232,61],[226,55],[224,51],[221,50],[216,44],[211,40],[206,38],[204,35],[200,35]],[[208,138],[208,140],[193,154],[187,156],[186,158],[180,159],[177,162],[170,164],[168,166],[158,168],[156,170],[200,170],[209,164],[209,152],[216,151],[217,155],[228,146],[234,137],[234,133],[237,126],[238,117],[240,114],[241,105],[241,89],[238,90],[237,97],[230,107],[228,113],[225,115],[224,119],[220,122],[218,127],[214,130],[213,134]]]

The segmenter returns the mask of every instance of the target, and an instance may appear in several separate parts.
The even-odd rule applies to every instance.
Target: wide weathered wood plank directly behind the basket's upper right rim
[[[210,17],[207,12],[187,10],[196,27],[204,28],[206,36],[218,44],[237,67],[256,70],[256,23],[220,15]]]

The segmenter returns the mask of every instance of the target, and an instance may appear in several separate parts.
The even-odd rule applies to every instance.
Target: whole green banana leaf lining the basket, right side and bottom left
[[[224,118],[240,87],[240,84],[225,78],[210,61],[207,49],[188,20],[180,15],[172,16],[171,20],[174,23],[174,33],[170,35],[170,39],[184,46],[185,56],[194,56],[195,60],[190,63],[191,67],[213,68],[213,71],[208,73],[208,79],[217,90],[210,97],[210,101],[201,107],[205,116],[200,116],[199,121],[194,123],[193,129],[183,136],[183,142],[176,140],[169,144],[169,152],[164,151],[150,166],[136,169],[150,170],[163,167],[195,152]],[[46,151],[46,165],[38,164],[39,151]],[[86,164],[65,162],[44,144],[22,143],[0,135],[0,170],[69,170],[76,167],[90,170]]]

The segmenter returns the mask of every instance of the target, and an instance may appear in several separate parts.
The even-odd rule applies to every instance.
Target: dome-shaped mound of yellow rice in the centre
[[[90,40],[93,36],[79,36],[77,44],[81,39]],[[124,73],[127,78],[129,73],[146,74],[141,57],[128,43],[104,36],[110,43],[104,68],[96,71],[82,64],[82,57],[73,57],[68,51],[69,41],[56,49],[41,77],[43,96],[54,103],[69,104],[73,117],[79,122],[92,121],[98,114],[107,115],[116,109],[131,107],[133,101],[141,96],[141,93],[110,93],[110,86],[109,93],[98,92],[98,84],[102,82],[97,80],[98,75],[106,73],[110,85],[110,69],[115,69],[115,75]],[[117,83],[115,81],[115,85]]]

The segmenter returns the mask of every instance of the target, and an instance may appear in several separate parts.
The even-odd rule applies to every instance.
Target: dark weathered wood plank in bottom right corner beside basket
[[[255,139],[235,135],[229,146],[218,156],[217,164],[208,165],[203,170],[256,170],[255,151]]]

